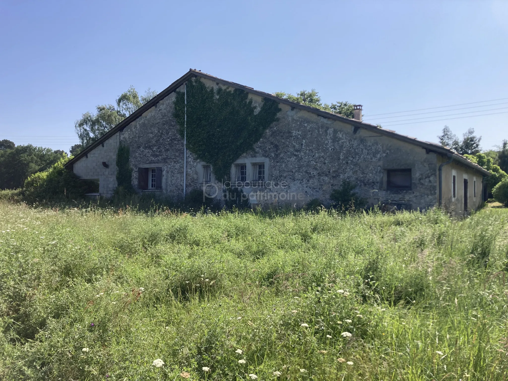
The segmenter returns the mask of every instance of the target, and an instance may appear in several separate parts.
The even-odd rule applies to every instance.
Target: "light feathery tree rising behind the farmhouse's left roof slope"
[[[96,113],[85,112],[74,123],[82,148],[98,140],[156,95],[156,91],[148,88],[140,97],[136,89],[131,86],[116,99],[116,108],[113,105],[99,105],[96,107]]]

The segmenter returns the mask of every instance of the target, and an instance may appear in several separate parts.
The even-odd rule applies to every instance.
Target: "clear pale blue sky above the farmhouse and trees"
[[[315,88],[423,140],[437,141],[444,124],[459,136],[474,128],[484,149],[508,139],[504,0],[3,0],[0,35],[0,139],[16,144],[68,151],[81,114],[130,85],[161,91],[189,68],[267,92]],[[369,117],[496,99],[396,120],[497,113],[487,116]]]

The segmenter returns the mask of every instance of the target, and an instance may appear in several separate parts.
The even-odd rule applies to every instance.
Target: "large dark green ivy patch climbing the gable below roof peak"
[[[184,136],[185,102],[177,91],[175,117]],[[187,82],[187,147],[211,164],[215,177],[229,180],[231,166],[252,149],[277,120],[278,103],[264,99],[258,110],[241,89],[208,88],[199,78]]]

